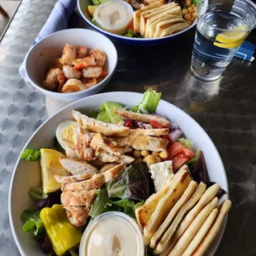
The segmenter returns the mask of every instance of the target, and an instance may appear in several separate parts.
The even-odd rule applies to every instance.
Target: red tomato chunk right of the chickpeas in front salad
[[[195,153],[184,147],[178,142],[175,142],[173,145],[168,147],[168,160],[173,161],[173,172],[176,173],[178,168],[183,164],[186,164],[190,159],[195,156]]]

